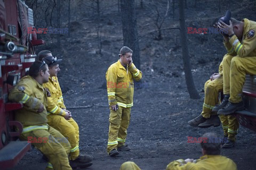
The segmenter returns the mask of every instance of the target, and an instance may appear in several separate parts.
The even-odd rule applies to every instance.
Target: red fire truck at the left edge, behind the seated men
[[[0,168],[17,165],[30,150],[30,143],[19,141],[21,123],[14,121],[13,111],[22,103],[10,103],[8,93],[35,61],[35,46],[44,44],[36,34],[33,11],[22,0],[0,0]],[[18,129],[18,130],[17,130]]]

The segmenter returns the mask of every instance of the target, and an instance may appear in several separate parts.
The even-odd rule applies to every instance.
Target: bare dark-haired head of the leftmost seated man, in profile
[[[40,84],[47,83],[50,76],[47,64],[42,61],[35,61],[31,64],[28,75]]]

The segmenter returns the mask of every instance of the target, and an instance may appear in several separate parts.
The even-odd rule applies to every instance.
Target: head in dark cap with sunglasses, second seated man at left
[[[49,74],[50,77],[57,76],[58,72],[60,71],[59,63],[62,61],[62,59],[57,60],[57,57],[53,56],[46,56],[43,61],[48,65],[49,67]]]

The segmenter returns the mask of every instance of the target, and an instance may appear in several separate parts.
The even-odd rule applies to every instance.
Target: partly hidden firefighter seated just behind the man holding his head
[[[222,63],[226,62],[233,56],[237,55],[234,51],[232,45],[226,41],[227,37],[223,35],[223,44],[227,49],[227,54],[223,56],[223,60],[219,66],[219,74],[215,74],[211,76],[211,79],[205,83],[205,98],[203,104],[203,112],[198,117],[190,120],[188,124],[190,126],[198,126],[198,127],[210,127],[219,125],[219,118],[216,110],[214,110],[214,106],[218,104],[219,92],[223,91],[223,69]],[[224,93],[223,101],[228,101],[229,89]],[[223,103],[223,102],[222,102]],[[220,115],[220,120],[222,123],[224,137],[228,137],[230,141],[235,141],[235,137],[238,132],[239,123],[235,116],[233,115]],[[234,143],[224,143],[222,148],[231,148],[234,147]]]

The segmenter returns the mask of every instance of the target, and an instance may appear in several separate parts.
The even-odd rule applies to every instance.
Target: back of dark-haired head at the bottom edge
[[[205,133],[202,139],[206,139],[201,142],[203,155],[220,155],[221,139],[216,133]]]

